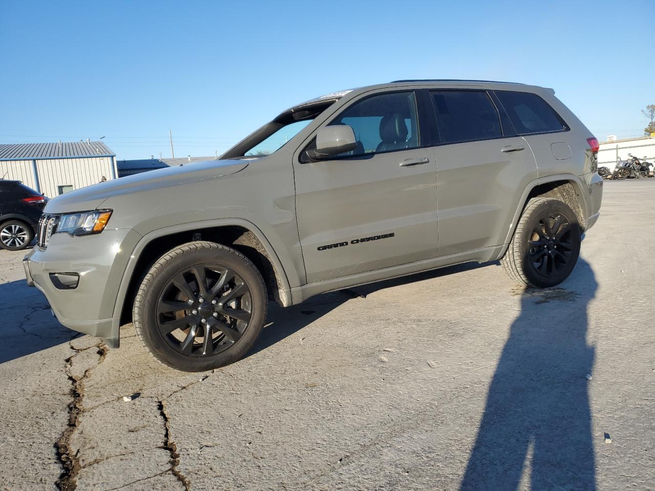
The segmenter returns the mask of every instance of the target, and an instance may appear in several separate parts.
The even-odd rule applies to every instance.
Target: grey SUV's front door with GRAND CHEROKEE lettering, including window
[[[363,96],[326,123],[350,125],[354,151],[294,162],[308,283],[436,256],[436,164],[418,113],[411,90]]]

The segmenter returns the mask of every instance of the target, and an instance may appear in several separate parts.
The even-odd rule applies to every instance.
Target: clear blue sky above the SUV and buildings
[[[214,155],[290,105],[409,78],[555,88],[599,139],[655,103],[655,1],[0,0],[0,143]]]

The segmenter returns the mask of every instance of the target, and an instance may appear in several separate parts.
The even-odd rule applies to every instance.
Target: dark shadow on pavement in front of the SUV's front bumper
[[[0,363],[78,336],[52,317],[43,293],[25,280],[0,284],[0,319]]]

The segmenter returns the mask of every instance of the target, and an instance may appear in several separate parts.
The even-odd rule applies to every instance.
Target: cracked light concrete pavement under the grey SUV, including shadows
[[[653,490],[654,239],[655,179],[607,182],[559,288],[470,264],[271,306],[204,374],[60,326],[0,251],[0,488]]]

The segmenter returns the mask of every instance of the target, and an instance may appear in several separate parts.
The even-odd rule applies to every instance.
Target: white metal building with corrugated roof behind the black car
[[[49,198],[117,176],[116,155],[102,141],[0,145],[0,179],[22,181]]]

